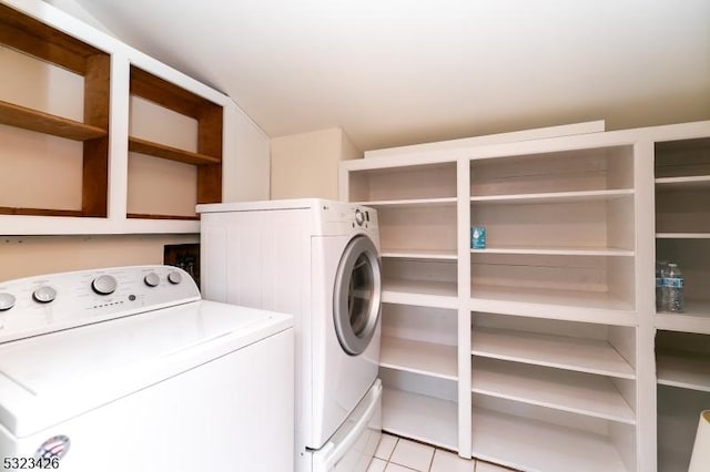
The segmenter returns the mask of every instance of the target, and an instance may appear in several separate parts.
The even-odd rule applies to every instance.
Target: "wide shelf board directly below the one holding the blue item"
[[[500,312],[570,321],[633,326],[637,315],[629,302],[602,291],[471,285],[473,311]]]

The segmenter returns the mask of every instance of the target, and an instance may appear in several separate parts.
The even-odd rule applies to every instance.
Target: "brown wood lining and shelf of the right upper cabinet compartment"
[[[129,138],[129,150],[197,166],[197,202],[222,202],[222,106],[131,66],[131,94],[197,121],[197,152]],[[129,216],[131,217],[131,216]]]

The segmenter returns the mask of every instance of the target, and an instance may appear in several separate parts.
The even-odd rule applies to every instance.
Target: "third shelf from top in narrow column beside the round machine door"
[[[384,279],[382,300],[387,304],[458,308],[455,281]]]

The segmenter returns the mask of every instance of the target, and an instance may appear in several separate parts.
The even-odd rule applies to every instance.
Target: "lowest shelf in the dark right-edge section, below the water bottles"
[[[656,377],[661,386],[710,392],[710,361],[691,352],[656,355]]]

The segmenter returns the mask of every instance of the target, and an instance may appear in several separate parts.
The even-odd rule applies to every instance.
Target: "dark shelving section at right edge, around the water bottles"
[[[656,259],[679,264],[683,314],[655,317],[658,468],[686,471],[710,407],[710,134],[655,143]]]

